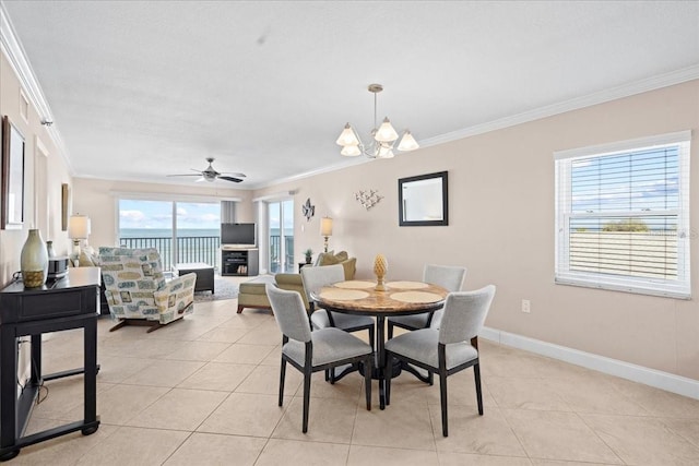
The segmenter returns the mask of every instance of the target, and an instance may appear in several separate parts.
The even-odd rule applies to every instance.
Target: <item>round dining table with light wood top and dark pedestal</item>
[[[384,288],[384,289],[377,289]],[[441,286],[410,280],[388,282],[377,287],[371,280],[345,280],[324,286],[310,294],[318,308],[330,312],[376,318],[375,370],[379,382],[379,407],[386,408],[386,318],[434,312],[445,306],[449,290]],[[398,373],[392,370],[391,377]]]

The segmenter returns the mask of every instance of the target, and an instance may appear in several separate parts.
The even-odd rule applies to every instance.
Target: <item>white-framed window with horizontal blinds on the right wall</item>
[[[690,298],[690,136],[554,154],[556,283]]]

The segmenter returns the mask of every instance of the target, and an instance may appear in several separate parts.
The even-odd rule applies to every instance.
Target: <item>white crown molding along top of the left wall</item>
[[[36,108],[36,111],[39,113],[39,118],[42,121],[55,121],[54,112],[51,111],[48,101],[46,100],[46,96],[42,91],[42,86],[36,79],[36,74],[32,69],[32,64],[26,57],[26,52],[24,51],[24,47],[20,41],[16,33],[14,32],[14,27],[10,22],[10,16],[8,11],[4,8],[4,2],[0,0],[0,51],[4,53],[10,62],[10,67],[12,67],[12,71],[16,74],[20,80],[20,86],[24,91],[24,94],[29,99],[29,103]],[[68,157],[68,150],[66,144],[63,143],[63,139],[61,138],[60,132],[56,128],[56,124],[47,126],[46,132],[49,138],[54,141],[54,144],[58,148],[66,166],[68,168],[68,172],[71,176],[74,176],[74,170],[71,165],[70,158]]]

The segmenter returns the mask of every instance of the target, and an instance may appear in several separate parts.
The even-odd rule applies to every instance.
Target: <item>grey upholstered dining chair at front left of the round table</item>
[[[308,431],[310,379],[313,372],[364,362],[367,410],[371,410],[371,347],[340,328],[328,327],[311,332],[304,301],[297,291],[287,291],[268,284],[266,295],[282,332],[279,405],[284,404],[284,379],[288,362],[304,373],[303,432]]]

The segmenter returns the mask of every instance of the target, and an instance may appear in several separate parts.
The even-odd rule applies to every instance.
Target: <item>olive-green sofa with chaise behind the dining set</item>
[[[318,254],[313,266],[318,265],[333,265],[342,264],[345,270],[345,279],[353,279],[357,271],[356,258],[350,258],[347,252],[341,251],[323,252]],[[309,266],[309,265],[306,265]],[[304,300],[306,311],[310,312],[310,304],[304,289],[304,282],[301,282],[300,274],[276,274],[273,277],[269,275],[262,275],[253,280],[245,282],[240,284],[238,289],[238,313],[242,312],[245,308],[252,309],[269,309],[272,310],[270,300],[266,298],[266,291],[264,289],[266,284],[275,284],[281,289],[298,291]]]

